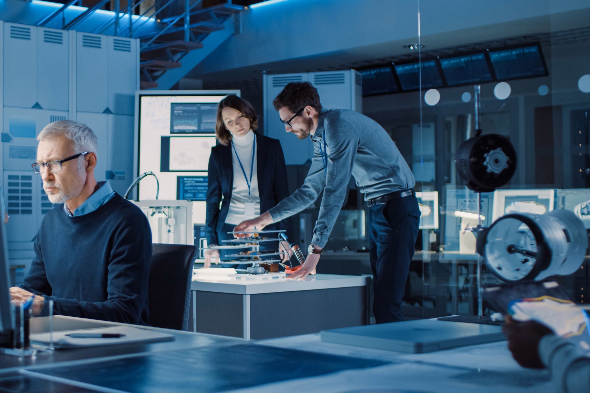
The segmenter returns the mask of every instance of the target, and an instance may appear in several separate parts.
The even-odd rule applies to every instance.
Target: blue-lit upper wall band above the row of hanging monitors
[[[417,1],[408,0],[285,0],[259,6],[241,16],[241,34],[220,45],[192,72],[253,67],[290,60],[306,70],[314,65],[389,57],[418,37]],[[421,0],[421,34],[427,49],[477,42],[489,29],[504,37],[552,28],[586,25],[590,3],[571,1]],[[584,11],[584,12],[580,12]],[[453,23],[448,23],[453,21]],[[468,33],[467,33],[468,32]],[[322,60],[318,61],[317,58]],[[271,67],[272,68],[272,67]],[[291,69],[295,71],[297,68]],[[277,72],[286,70],[277,69]]]

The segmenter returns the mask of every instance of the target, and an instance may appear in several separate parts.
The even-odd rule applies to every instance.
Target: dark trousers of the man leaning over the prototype
[[[413,195],[369,207],[376,323],[404,321],[402,296],[414,256],[419,217],[418,200]]]

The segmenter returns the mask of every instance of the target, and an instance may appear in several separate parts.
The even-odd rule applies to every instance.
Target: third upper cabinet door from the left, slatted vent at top
[[[76,32],[76,110],[103,113],[109,106],[106,35]]]

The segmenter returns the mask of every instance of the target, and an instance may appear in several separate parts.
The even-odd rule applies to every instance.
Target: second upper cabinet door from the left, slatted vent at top
[[[37,102],[43,109],[68,110],[69,38],[67,31],[37,28]]]

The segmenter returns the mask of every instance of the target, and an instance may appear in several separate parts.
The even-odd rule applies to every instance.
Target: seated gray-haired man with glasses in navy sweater
[[[104,321],[148,323],[152,233],[145,215],[97,182],[97,138],[85,124],[48,124],[37,137],[35,173],[52,203],[63,203],[41,222],[35,258],[12,299],[31,296],[33,312]]]

